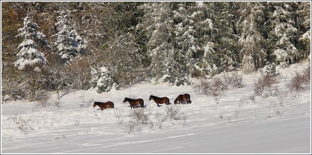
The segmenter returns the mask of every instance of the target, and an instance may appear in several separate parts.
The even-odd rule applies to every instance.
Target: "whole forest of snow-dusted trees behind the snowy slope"
[[[309,1],[1,5],[2,97],[15,101],[310,61]]]

